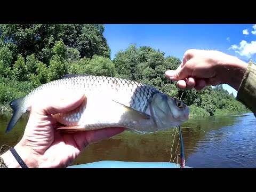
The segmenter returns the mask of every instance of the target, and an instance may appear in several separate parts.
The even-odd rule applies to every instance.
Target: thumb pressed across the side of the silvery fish
[[[64,113],[77,108],[84,99],[84,93],[79,91],[65,94],[57,93],[52,98],[45,98],[42,102],[32,106],[31,113],[34,111],[41,115]]]

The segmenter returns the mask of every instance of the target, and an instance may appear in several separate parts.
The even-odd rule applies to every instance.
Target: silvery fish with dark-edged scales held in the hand
[[[34,103],[54,91],[82,91],[85,95],[76,109],[52,115],[63,125],[57,129],[62,132],[125,127],[125,131],[145,134],[178,126],[189,118],[185,103],[148,84],[117,77],[67,74],[11,101],[13,115],[5,132],[10,132]]]

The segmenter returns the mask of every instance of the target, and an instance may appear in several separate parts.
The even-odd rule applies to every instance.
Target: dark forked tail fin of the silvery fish
[[[23,115],[23,112],[21,111],[21,105],[22,105],[23,98],[14,99],[9,103],[13,110],[12,118],[5,130],[5,133],[11,131],[15,124],[19,121],[20,117]]]

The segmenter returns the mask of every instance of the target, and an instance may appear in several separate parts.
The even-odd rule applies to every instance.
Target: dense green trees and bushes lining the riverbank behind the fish
[[[202,91],[179,90],[164,73],[181,61],[164,57],[149,46],[130,45],[110,60],[103,25],[7,24],[0,25],[0,110],[35,87],[65,74],[113,76],[147,83],[180,98],[191,116],[245,113],[250,111],[222,85]]]

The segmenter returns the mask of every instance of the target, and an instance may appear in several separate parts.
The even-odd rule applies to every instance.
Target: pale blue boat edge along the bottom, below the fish
[[[92,163],[70,165],[67,168],[180,168],[180,164],[170,162],[98,161]],[[185,166],[185,168],[192,167]]]

